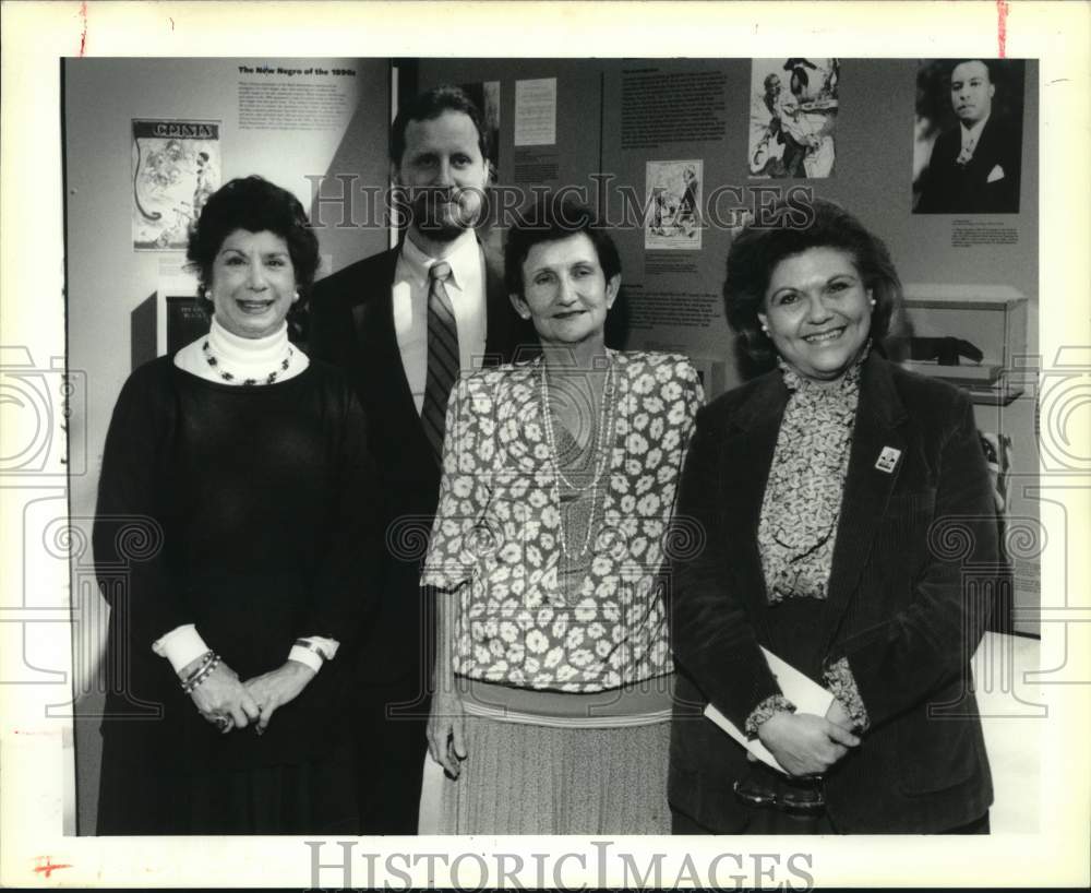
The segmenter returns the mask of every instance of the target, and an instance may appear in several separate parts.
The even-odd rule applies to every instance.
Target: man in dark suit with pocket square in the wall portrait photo
[[[1018,213],[1021,133],[992,114],[996,85],[988,66],[957,63],[950,90],[959,124],[932,147],[915,213]]]

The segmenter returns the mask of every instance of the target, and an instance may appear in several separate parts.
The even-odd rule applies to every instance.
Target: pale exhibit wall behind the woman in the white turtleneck
[[[73,431],[86,444],[92,471],[98,467],[113,401],[132,371],[131,314],[159,288],[184,281],[182,251],[133,248],[134,119],[220,122],[220,182],[259,174],[291,190],[311,206],[311,181],[348,170],[383,182],[387,165],[385,119],[388,67],[385,60],[323,60],[343,68],[344,109],[321,122],[284,120],[267,128],[240,123],[245,84],[327,81],[302,75],[245,75],[268,66],[305,70],[305,59],[70,59],[64,63],[65,216],[68,337],[70,367],[88,376],[88,404]],[[283,100],[281,100],[283,102]],[[281,115],[284,112],[281,111]],[[379,228],[322,233],[322,252],[340,264],[385,245]],[[76,407],[79,408],[79,407]],[[94,509],[95,475],[72,481],[73,512]]]

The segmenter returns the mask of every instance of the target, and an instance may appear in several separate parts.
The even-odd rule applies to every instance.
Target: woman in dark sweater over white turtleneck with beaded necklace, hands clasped
[[[351,832],[344,693],[381,540],[362,410],[288,342],[317,240],[248,177],[188,258],[212,330],[133,372],[103,459],[98,833]]]

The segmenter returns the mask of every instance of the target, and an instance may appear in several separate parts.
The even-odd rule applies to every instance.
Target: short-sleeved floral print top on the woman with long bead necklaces
[[[704,397],[682,356],[611,357],[614,400],[604,414],[613,414],[612,446],[578,585],[563,584],[585,537],[561,529],[540,361],[464,376],[452,393],[421,585],[459,599],[457,675],[592,692],[672,671],[663,545]]]

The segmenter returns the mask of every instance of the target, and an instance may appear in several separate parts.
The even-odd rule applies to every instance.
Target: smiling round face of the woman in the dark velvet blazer
[[[872,329],[872,295],[855,261],[837,248],[808,248],[778,263],[758,319],[781,358],[828,381],[860,356]]]

